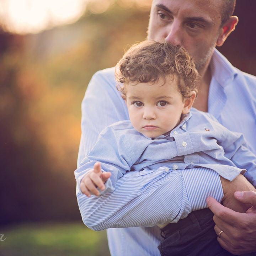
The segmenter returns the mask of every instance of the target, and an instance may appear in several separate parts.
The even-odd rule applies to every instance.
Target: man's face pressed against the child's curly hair
[[[184,47],[200,71],[220,33],[220,8],[218,0],[153,0],[148,39]]]

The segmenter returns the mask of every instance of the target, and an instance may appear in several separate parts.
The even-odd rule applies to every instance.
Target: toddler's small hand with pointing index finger
[[[96,162],[94,165],[94,170],[89,171],[80,183],[80,189],[83,194],[87,197],[95,194],[95,196],[99,196],[100,192],[97,190],[97,187],[100,190],[105,190],[104,183],[111,176],[111,172],[102,172],[100,162]],[[91,193],[90,193],[91,192]]]

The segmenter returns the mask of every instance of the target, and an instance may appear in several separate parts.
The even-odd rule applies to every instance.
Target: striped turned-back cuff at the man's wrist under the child
[[[188,200],[192,211],[207,208],[206,198],[211,196],[219,203],[223,198],[219,174],[208,168],[182,170]]]

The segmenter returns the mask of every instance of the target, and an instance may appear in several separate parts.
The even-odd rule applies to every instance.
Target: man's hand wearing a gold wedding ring
[[[252,189],[255,191],[255,188]],[[248,205],[251,206],[245,213],[235,212],[212,197],[207,198],[207,205],[214,213],[213,220],[216,224],[214,230],[217,235],[223,231],[217,240],[225,250],[235,255],[256,252],[256,192],[254,191],[234,193],[234,200],[246,205],[245,209]],[[226,200],[227,198],[225,203],[229,204]],[[233,206],[237,207],[236,204]]]

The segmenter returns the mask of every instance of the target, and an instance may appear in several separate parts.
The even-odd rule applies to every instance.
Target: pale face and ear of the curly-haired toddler
[[[176,76],[172,80],[167,77],[165,84],[160,78],[154,84],[126,85],[130,121],[138,132],[150,138],[174,129],[181,121],[181,114],[189,112],[193,99],[183,101]]]

